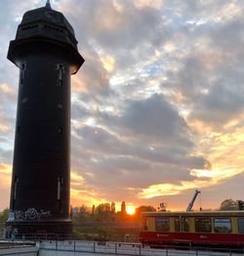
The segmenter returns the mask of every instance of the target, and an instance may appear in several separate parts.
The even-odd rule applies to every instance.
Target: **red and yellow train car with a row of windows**
[[[244,211],[143,212],[147,245],[244,246]]]

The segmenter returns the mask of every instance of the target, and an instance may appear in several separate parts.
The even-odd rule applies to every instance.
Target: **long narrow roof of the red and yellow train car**
[[[177,212],[142,212],[142,217],[200,217],[200,216],[237,216],[244,218],[244,211],[177,211]]]

